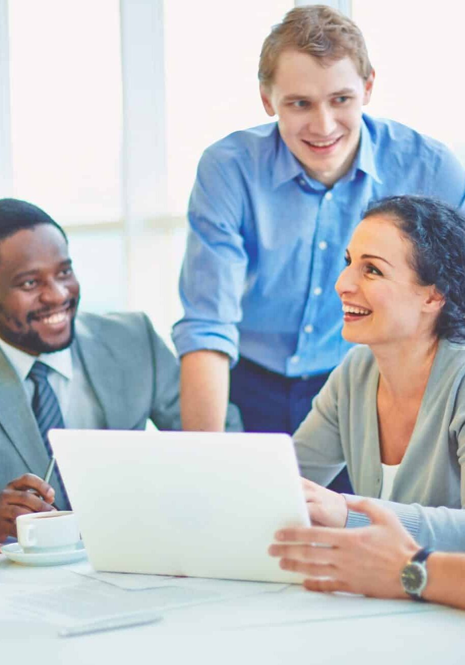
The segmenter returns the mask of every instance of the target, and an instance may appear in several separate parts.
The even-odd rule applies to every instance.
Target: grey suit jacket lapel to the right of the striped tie
[[[106,428],[125,429],[124,381],[122,370],[104,338],[94,334],[82,319],[76,321],[73,346],[104,412]]]

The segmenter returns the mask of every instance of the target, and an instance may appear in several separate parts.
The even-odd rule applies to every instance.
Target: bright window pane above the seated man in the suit
[[[61,223],[120,220],[118,0],[10,0],[14,196]]]

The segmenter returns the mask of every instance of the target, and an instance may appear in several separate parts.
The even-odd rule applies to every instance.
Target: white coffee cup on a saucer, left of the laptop
[[[26,553],[70,552],[79,547],[77,517],[71,510],[19,515],[16,529]]]

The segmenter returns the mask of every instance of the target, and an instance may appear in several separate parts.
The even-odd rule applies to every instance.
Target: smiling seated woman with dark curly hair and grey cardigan
[[[343,336],[366,346],[294,435],[313,523],[367,522],[321,486],[347,464],[420,545],[465,549],[464,268],[465,219],[433,199],[383,199],[355,229],[336,289]]]

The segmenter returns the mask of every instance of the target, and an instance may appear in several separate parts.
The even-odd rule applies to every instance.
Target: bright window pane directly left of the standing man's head
[[[198,160],[235,130],[269,122],[258,92],[263,39],[292,0],[165,2],[168,208],[184,213]]]

